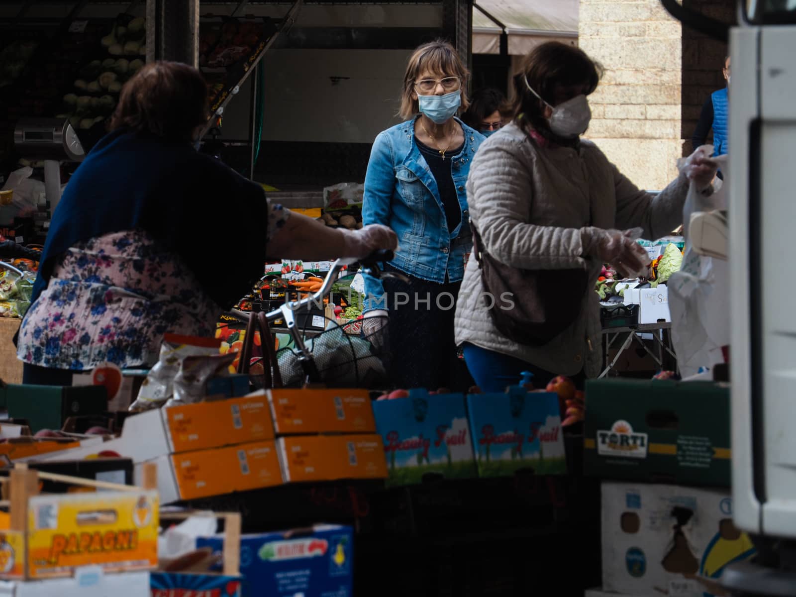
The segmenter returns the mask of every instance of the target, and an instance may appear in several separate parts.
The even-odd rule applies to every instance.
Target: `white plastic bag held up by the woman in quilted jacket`
[[[700,256],[689,236],[691,214],[727,208],[728,157],[713,158],[724,174],[724,184],[710,197],[692,184],[683,206],[685,256],[680,271],[672,274],[669,311],[672,316],[672,344],[682,377],[724,362],[722,347],[730,343],[729,269],[724,259]]]

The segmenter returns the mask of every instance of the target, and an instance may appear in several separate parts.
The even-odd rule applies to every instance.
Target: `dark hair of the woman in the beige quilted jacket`
[[[595,91],[602,75],[603,67],[582,49],[560,41],[538,45],[525,57],[520,72],[513,78],[514,99],[509,113],[513,118],[525,115],[534,128],[546,129],[544,107],[529,86],[542,99],[552,103],[556,85],[586,85],[588,96]]]

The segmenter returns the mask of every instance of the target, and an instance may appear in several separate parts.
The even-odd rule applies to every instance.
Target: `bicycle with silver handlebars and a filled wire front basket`
[[[379,251],[366,259],[338,259],[326,274],[321,289],[299,301],[287,302],[277,310],[265,314],[268,322],[282,320],[291,334],[292,346],[276,353],[279,376],[285,387],[301,387],[306,383],[320,383],[329,387],[383,387],[386,381],[384,361],[387,357],[386,325],[373,334],[361,320],[339,324],[327,319],[325,329],[314,338],[306,339],[306,326],[298,325],[297,314],[311,306],[323,309],[323,300],[332,291],[338,275],[345,267],[355,269],[357,264],[363,271],[377,278],[404,276],[384,273],[379,263],[391,261],[392,251]],[[244,311],[236,311],[242,318],[257,317]],[[305,318],[306,321],[306,318]],[[386,324],[386,322],[384,322]],[[261,332],[264,330],[261,330]],[[263,340],[263,346],[266,341]],[[242,357],[244,360],[246,355]],[[264,367],[269,366],[267,362]],[[267,378],[267,376],[266,376]]]

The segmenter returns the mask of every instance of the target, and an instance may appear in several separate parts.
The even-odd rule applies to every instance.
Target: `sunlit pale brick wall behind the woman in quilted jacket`
[[[658,0],[580,0],[579,46],[605,68],[586,137],[646,189],[677,176],[683,151],[682,29]]]

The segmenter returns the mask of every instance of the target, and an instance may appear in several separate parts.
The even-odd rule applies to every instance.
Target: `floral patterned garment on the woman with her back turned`
[[[221,309],[178,256],[145,232],[128,231],[69,249],[22,322],[25,363],[81,371],[158,361],[163,334],[213,337]]]

